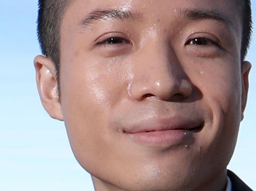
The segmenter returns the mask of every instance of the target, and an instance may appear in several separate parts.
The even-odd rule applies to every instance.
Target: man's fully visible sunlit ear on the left
[[[36,68],[37,87],[43,106],[52,118],[63,121],[53,62],[45,56],[36,56],[34,66]]]

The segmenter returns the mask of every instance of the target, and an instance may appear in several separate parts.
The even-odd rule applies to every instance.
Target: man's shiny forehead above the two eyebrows
[[[71,22],[72,25],[81,23],[82,19],[97,9],[135,11],[147,18],[162,16],[167,20],[172,16],[182,16],[178,13],[186,10],[197,9],[219,12],[239,28],[242,7],[242,3],[237,3],[237,0],[162,0],[161,3],[159,0],[72,0],[62,17],[62,23],[63,20],[64,23]]]

